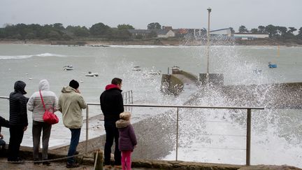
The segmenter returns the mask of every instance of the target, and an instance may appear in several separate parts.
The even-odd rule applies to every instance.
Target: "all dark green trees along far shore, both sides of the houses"
[[[147,25],[148,29],[161,29],[161,24],[152,22]],[[130,24],[119,24],[117,28],[111,28],[101,22],[93,24],[92,27],[81,26],[67,26],[64,27],[61,23],[55,24],[12,24],[0,28],[0,38],[4,39],[48,39],[48,40],[71,40],[71,39],[89,39],[89,38],[106,38],[106,39],[120,39],[128,40],[133,38],[128,29],[134,29]],[[230,28],[232,34],[235,32]],[[294,27],[280,27],[268,24],[266,27],[259,26],[250,31],[241,25],[238,29],[239,33],[252,34],[268,34],[270,38],[278,40],[302,40],[302,27],[299,33],[294,35],[297,31]]]

